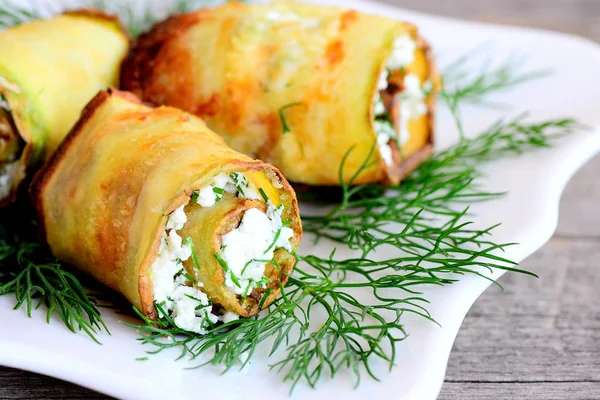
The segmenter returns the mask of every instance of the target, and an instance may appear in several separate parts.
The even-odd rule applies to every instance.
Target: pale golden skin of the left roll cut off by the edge
[[[19,135],[25,141],[20,162],[23,175],[27,172],[28,178],[44,157],[53,153],[98,89],[117,83],[116,67],[129,44],[129,34],[115,15],[93,8],[70,10],[62,15],[79,18],[59,15],[16,27],[7,41],[10,45],[3,46],[0,57],[0,69],[13,71],[11,83],[20,88],[7,100]],[[24,40],[29,41],[26,52],[19,46]],[[65,46],[65,41],[70,46]],[[78,54],[77,61],[68,57],[69,52]],[[74,82],[78,85],[75,88]],[[73,95],[57,96],[64,91]],[[21,185],[25,192],[30,182],[27,179]]]

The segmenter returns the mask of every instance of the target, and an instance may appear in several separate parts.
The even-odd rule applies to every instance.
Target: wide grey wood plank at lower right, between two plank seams
[[[467,316],[446,379],[600,384],[598,257],[595,240],[554,239],[522,265],[540,279],[501,279],[506,292],[488,290]],[[456,387],[444,386],[442,393]]]

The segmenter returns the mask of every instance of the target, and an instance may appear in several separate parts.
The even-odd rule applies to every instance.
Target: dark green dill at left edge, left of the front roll
[[[96,302],[80,280],[53,259],[44,246],[11,235],[0,225],[0,295],[14,294],[14,309],[46,307],[46,321],[57,315],[72,332],[84,331],[95,342],[97,335],[109,332]]]

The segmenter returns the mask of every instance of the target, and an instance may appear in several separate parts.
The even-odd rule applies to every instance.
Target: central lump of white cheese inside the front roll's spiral
[[[275,208],[269,201],[266,213],[257,208],[246,211],[240,226],[222,236],[225,285],[233,293],[248,295],[257,287],[265,287],[265,265],[273,260],[275,250],[292,250],[294,231],[283,226],[282,212],[283,206]]]

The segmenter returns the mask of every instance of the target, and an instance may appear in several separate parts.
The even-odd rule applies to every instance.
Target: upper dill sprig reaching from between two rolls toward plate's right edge
[[[498,120],[473,139],[462,139],[454,146],[434,154],[423,162],[400,186],[342,186],[341,203],[325,216],[303,216],[305,232],[348,243],[351,248],[368,252],[364,247],[373,232],[390,235],[389,222],[409,223],[420,210],[441,216],[463,212],[457,203],[486,200],[500,193],[479,190],[478,165],[510,154],[535,148],[547,148],[553,138],[579,128],[574,119],[527,123],[526,115]],[[386,192],[383,196],[381,193]],[[383,209],[383,211],[382,211]],[[429,220],[423,221],[429,227]]]

